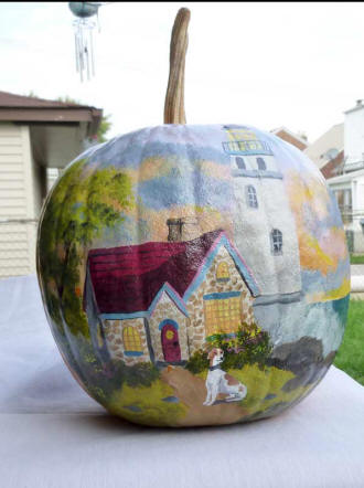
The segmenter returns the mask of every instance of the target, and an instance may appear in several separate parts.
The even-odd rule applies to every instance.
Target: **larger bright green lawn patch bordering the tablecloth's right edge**
[[[351,300],[347,326],[335,367],[364,385],[364,300]]]

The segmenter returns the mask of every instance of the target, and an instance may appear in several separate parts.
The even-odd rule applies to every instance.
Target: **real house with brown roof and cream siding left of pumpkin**
[[[0,92],[0,277],[35,270],[43,200],[58,169],[89,145],[101,116],[90,106]]]

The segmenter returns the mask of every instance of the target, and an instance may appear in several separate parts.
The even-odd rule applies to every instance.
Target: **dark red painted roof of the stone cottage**
[[[182,297],[222,232],[207,232],[186,242],[92,250],[87,265],[99,312],[148,310],[164,283]]]

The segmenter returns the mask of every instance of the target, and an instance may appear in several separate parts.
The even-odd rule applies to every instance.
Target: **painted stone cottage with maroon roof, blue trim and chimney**
[[[84,309],[104,360],[181,363],[214,335],[253,322],[260,290],[227,235],[184,240],[188,221],[168,225],[169,242],[88,254]]]

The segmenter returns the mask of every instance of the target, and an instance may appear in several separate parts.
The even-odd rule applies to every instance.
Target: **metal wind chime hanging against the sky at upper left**
[[[68,7],[72,13],[77,18],[73,25],[75,29],[75,51],[76,70],[79,73],[81,81],[84,81],[84,73],[87,79],[95,76],[94,43],[93,30],[98,25],[98,9],[109,2],[69,2]],[[97,17],[97,22],[93,19]]]

